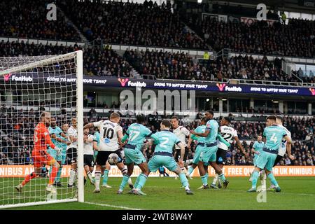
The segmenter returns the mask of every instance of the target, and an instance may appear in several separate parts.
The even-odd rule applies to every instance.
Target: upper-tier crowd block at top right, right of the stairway
[[[191,26],[214,50],[230,48],[235,52],[315,57],[315,22],[290,19],[288,25],[265,21],[219,22],[215,18],[191,18]]]

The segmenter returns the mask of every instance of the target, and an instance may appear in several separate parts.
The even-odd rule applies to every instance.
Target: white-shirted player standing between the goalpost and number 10
[[[90,179],[90,183],[94,184],[92,178],[92,172],[94,169],[94,150],[93,150],[93,135],[90,134],[90,130],[86,128],[84,130],[84,144],[83,144],[83,163],[86,176]],[[84,179],[84,183],[86,178]]]

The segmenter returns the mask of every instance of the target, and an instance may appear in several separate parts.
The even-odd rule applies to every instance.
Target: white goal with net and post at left
[[[83,202],[82,55],[0,57],[0,208]]]

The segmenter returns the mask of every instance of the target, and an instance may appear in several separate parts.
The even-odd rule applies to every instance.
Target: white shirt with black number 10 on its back
[[[118,131],[123,132],[123,127],[111,120],[100,120],[93,125],[99,129],[99,151],[117,151]]]

